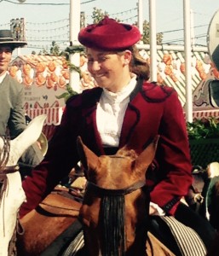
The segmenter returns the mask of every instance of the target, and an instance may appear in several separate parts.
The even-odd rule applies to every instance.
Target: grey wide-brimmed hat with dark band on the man
[[[25,41],[15,41],[12,32],[7,29],[0,30],[0,47],[9,45],[13,48],[24,47],[27,43]]]

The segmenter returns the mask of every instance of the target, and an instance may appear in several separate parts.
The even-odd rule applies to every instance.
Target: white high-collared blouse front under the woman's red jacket
[[[124,113],[135,84],[136,76],[117,93],[103,89],[96,111],[97,129],[101,135],[103,147],[118,147]]]

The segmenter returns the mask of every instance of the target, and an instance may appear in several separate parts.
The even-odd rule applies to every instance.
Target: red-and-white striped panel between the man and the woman
[[[34,119],[37,115],[40,114],[47,114],[47,119],[44,122],[44,125],[60,125],[61,123],[61,116],[63,113],[62,108],[30,108],[26,109],[26,114],[31,118]]]

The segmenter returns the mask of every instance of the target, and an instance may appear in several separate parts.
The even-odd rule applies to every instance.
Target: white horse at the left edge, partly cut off
[[[37,141],[45,119],[45,114],[32,119],[26,130],[14,140],[7,142],[0,137],[0,256],[9,255],[9,242],[15,232],[17,215],[26,200],[17,162],[21,154]]]

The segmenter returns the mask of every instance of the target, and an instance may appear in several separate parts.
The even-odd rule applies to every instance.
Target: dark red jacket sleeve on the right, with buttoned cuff
[[[164,114],[158,133],[158,183],[151,192],[151,201],[172,215],[192,183],[186,121],[176,91],[164,103]]]

